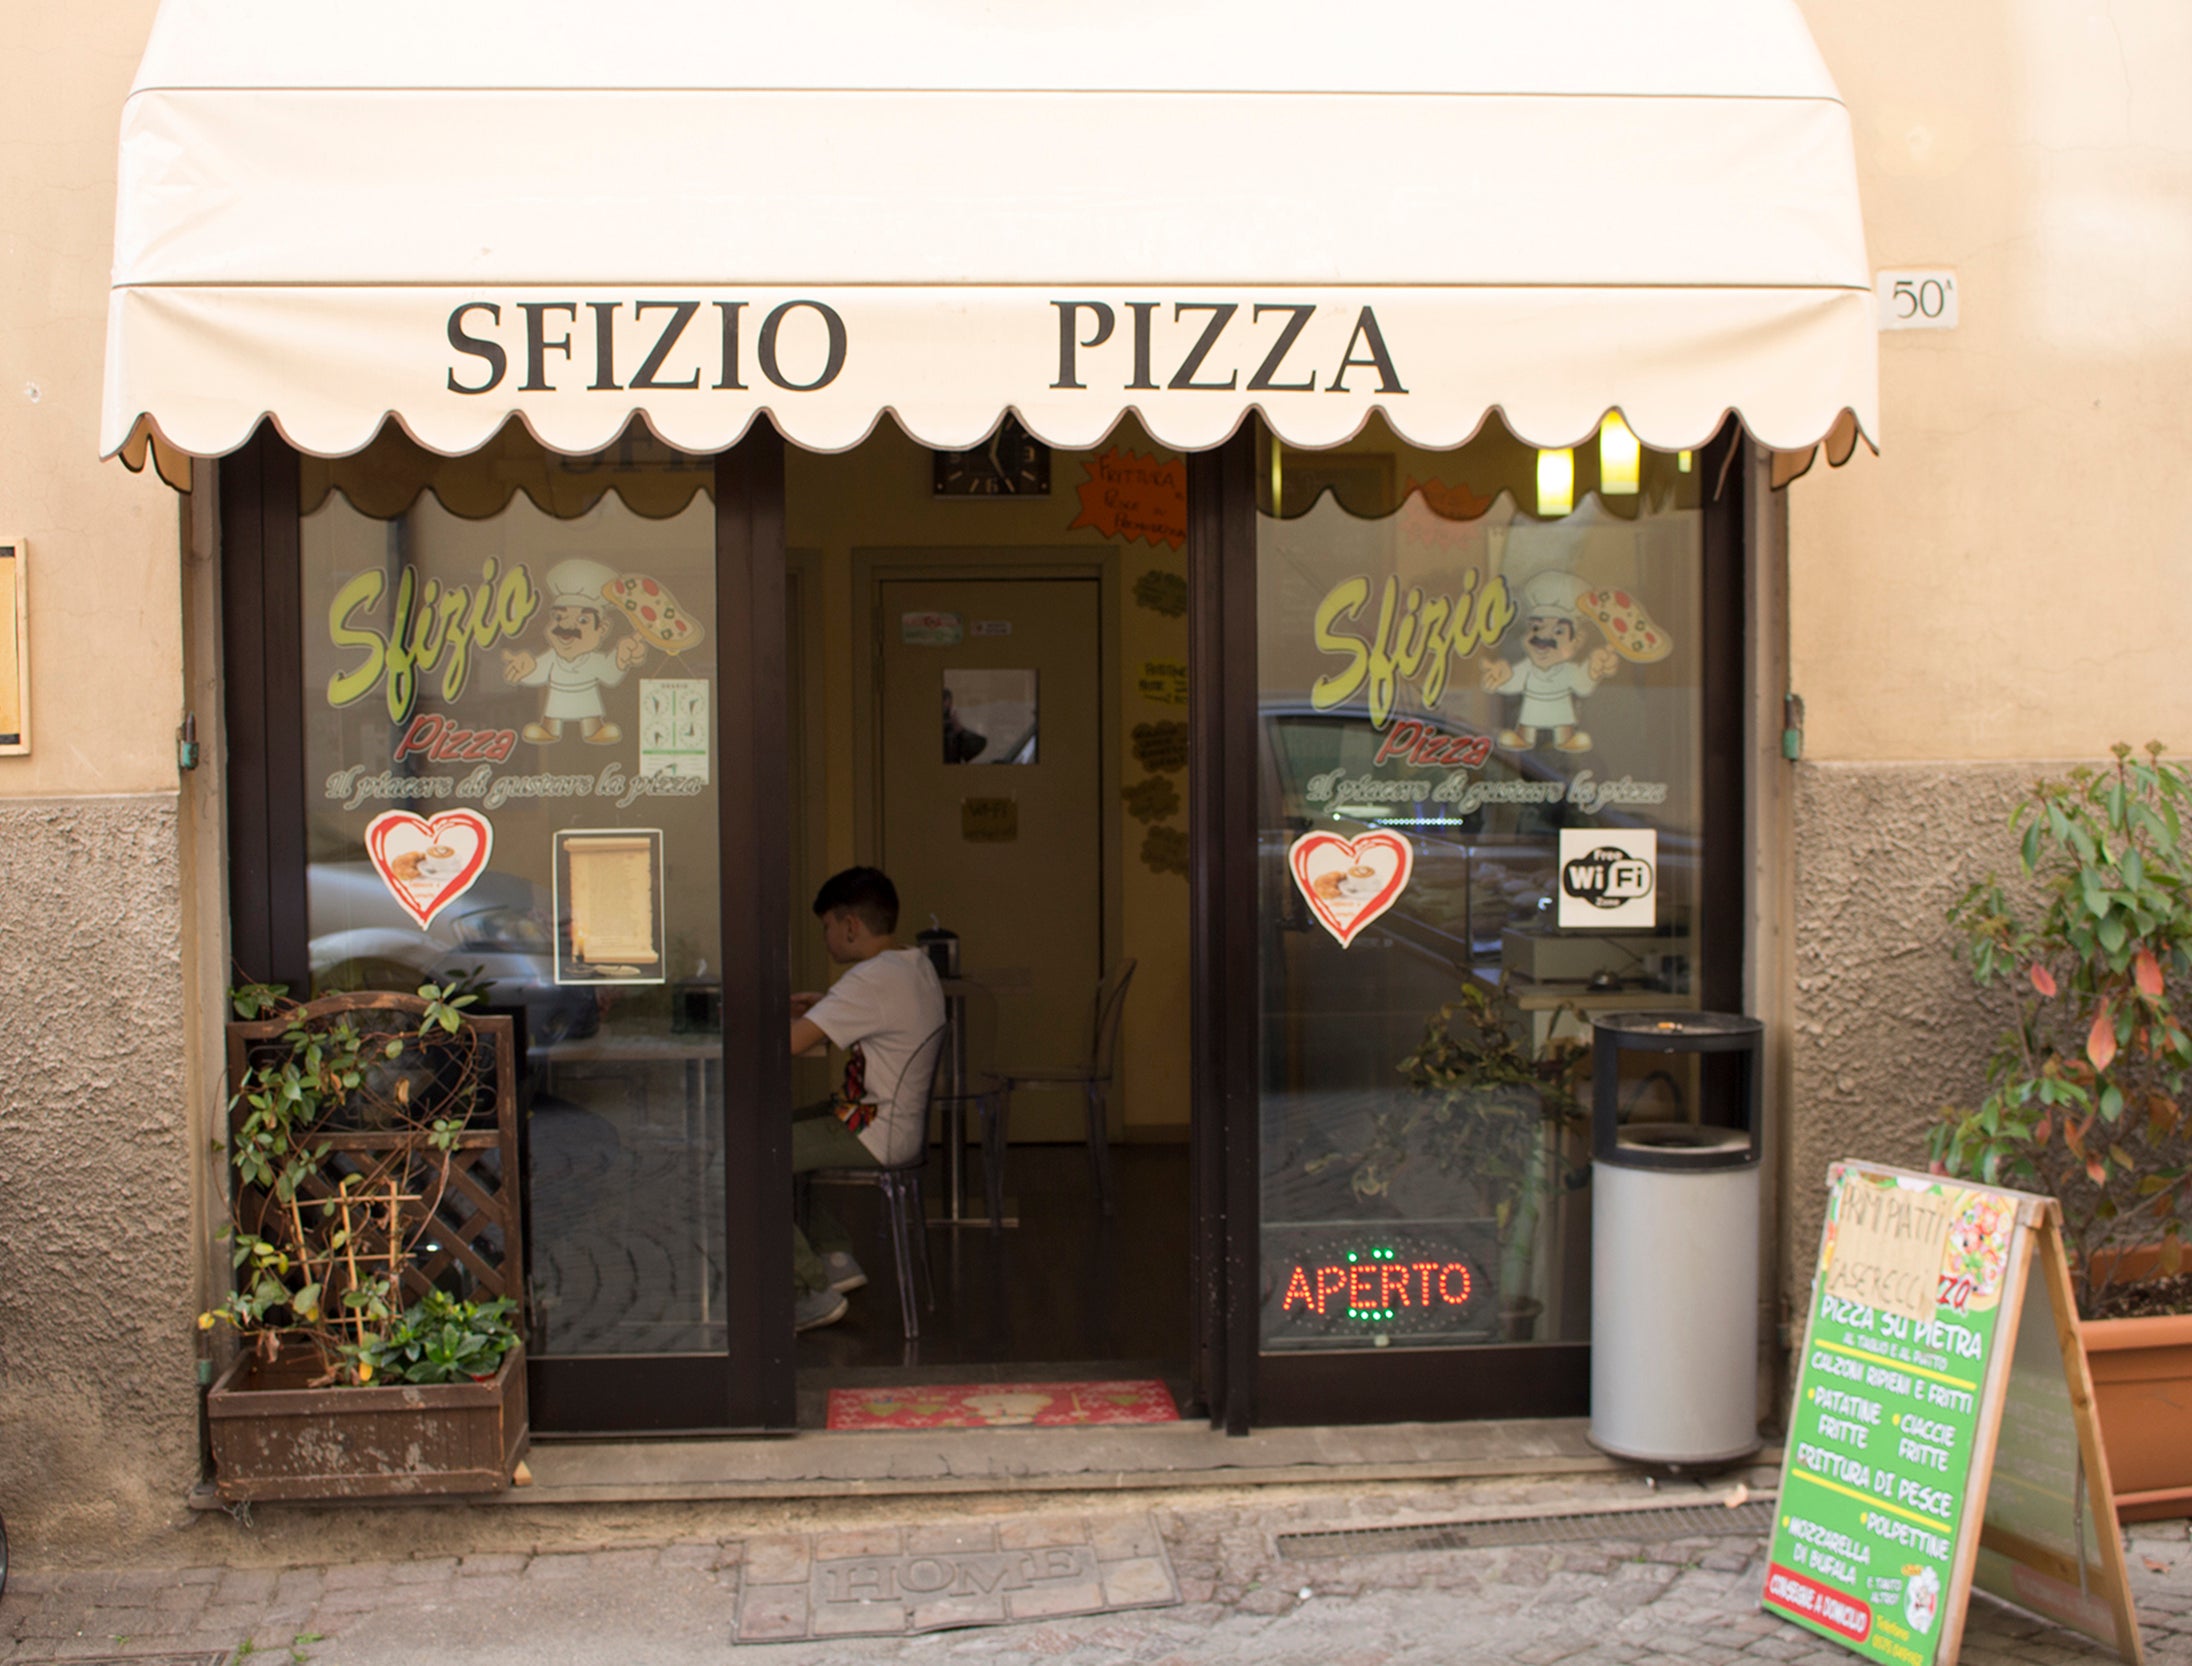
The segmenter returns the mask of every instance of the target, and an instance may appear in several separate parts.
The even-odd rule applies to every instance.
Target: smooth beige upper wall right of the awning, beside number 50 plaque
[[[2192,750],[2192,7],[1802,4],[1874,270],[1962,294],[1881,335],[1881,456],[1791,487],[1806,754]]]

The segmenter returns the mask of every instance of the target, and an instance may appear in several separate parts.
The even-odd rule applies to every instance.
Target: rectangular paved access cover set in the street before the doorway
[[[734,1640],[903,1638],[1177,1600],[1146,1515],[794,1532],[745,1541]]]

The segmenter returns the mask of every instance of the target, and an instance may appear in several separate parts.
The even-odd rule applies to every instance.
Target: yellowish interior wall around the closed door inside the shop
[[[1135,452],[1157,452],[1131,423],[1114,443]],[[1160,456],[1171,456],[1160,452]],[[934,500],[929,454],[881,423],[857,452],[815,456],[791,452],[785,476],[785,541],[822,557],[822,688],[824,688],[824,837],[829,870],[861,861],[855,844],[855,802],[861,758],[853,745],[853,655],[866,653],[855,627],[853,550],[861,548],[1081,548],[1109,568],[1114,612],[1105,620],[1105,651],[1120,671],[1118,750],[1120,785],[1131,787],[1149,772],[1133,761],[1135,723],[1186,721],[1184,706],[1160,706],[1135,693],[1144,660],[1188,658],[1186,618],[1166,618],[1135,605],[1133,585],[1144,572],[1186,577],[1186,557],[1146,541],[1116,544],[1092,528],[1068,530],[1078,509],[1076,487],[1085,478],[1078,454],[1052,458],[1050,495],[1017,502]],[[1186,831],[1186,772],[1175,774],[1181,809],[1168,818]],[[1184,1129],[1188,1120],[1188,881],[1175,872],[1153,872],[1142,864],[1144,824],[1118,802],[1109,815],[1120,842],[1120,951],[1133,956],[1133,989],[1127,997],[1127,1028],[1120,1037],[1118,1089],[1124,1120],[1133,1129]],[[1072,1057],[1063,1041],[1059,1061]]]

